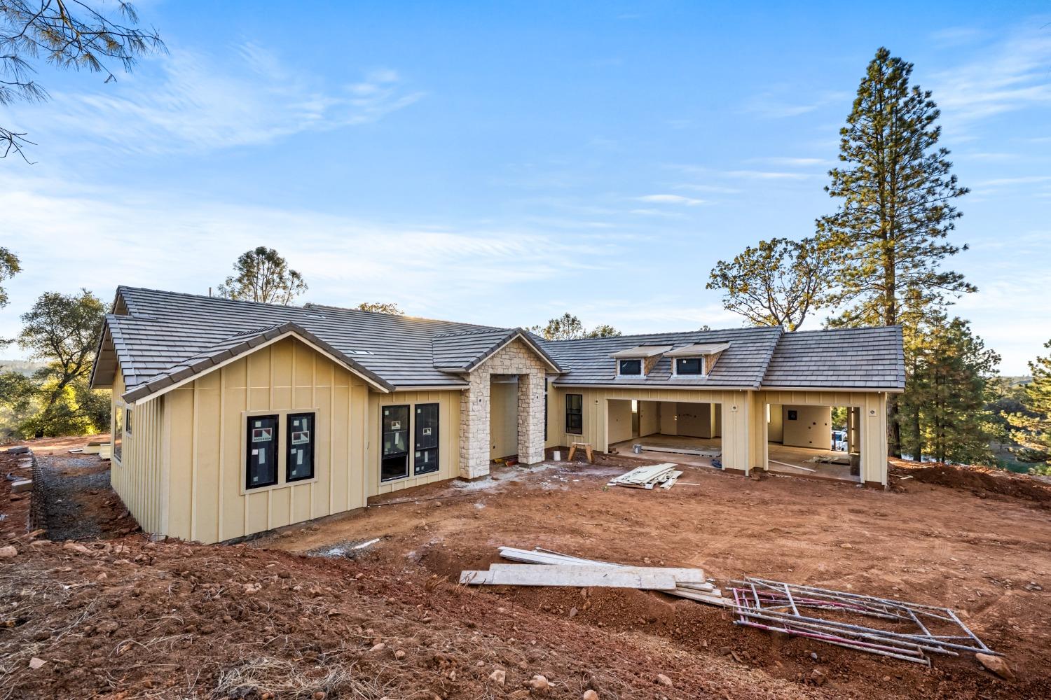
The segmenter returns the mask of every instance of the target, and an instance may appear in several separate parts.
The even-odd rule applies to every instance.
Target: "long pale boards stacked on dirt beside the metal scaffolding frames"
[[[489,571],[463,571],[460,584],[472,586],[570,586],[574,588],[634,588],[662,591],[715,606],[730,600],[704,577],[702,569],[633,567],[598,559],[583,559],[544,550],[500,547],[500,556],[526,565],[493,564]]]

